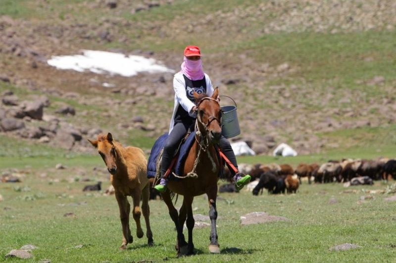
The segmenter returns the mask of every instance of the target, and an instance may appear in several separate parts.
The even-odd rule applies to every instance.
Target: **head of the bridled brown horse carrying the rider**
[[[198,130],[203,136],[207,136],[209,142],[218,143],[221,137],[221,114],[222,110],[217,100],[219,96],[216,87],[211,97],[206,94],[198,94],[194,91],[197,103]]]

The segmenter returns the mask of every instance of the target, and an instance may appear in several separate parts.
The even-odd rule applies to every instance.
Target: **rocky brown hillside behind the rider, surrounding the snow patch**
[[[304,32],[394,34],[395,1],[246,1],[235,6],[230,1],[224,9],[209,1],[206,6],[185,0],[59,2],[31,0],[23,6],[26,13],[10,8],[0,16],[1,134],[91,151],[86,138],[112,132],[121,141],[149,138],[142,144],[149,150],[168,129],[171,73],[125,78],[57,70],[47,60],[101,49],[155,58],[178,70],[183,47],[191,42],[201,46],[204,69],[220,93],[236,100],[242,134],[234,139],[248,141],[258,154],[270,154],[281,142],[299,154],[317,153],[323,146],[339,146],[318,132],[396,121],[394,79],[381,74],[355,79],[364,91],[340,94],[331,81],[312,83],[298,76],[304,65],[270,54],[261,61],[255,57],[259,46],[243,45],[263,36]],[[207,12],[191,16],[180,11],[188,10],[183,9],[187,4]],[[172,11],[170,18],[161,15]],[[395,53],[389,57],[395,61]],[[361,59],[377,58],[367,54]],[[382,95],[370,97],[367,87]]]

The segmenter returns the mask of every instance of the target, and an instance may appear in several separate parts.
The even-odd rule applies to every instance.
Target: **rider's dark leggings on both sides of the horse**
[[[168,170],[168,167],[172,162],[177,147],[179,146],[180,142],[186,135],[188,129],[192,125],[194,125],[194,123],[188,123],[188,124],[176,123],[172,129],[172,132],[169,133],[169,137],[166,139],[164,149],[162,152],[161,176],[165,175],[166,170]],[[228,158],[228,160],[230,160],[230,162],[238,170],[237,158],[235,157],[230,142],[227,140],[227,138],[221,136],[219,144],[224,155]],[[231,167],[228,168],[230,169],[231,174],[235,175],[234,170]]]

